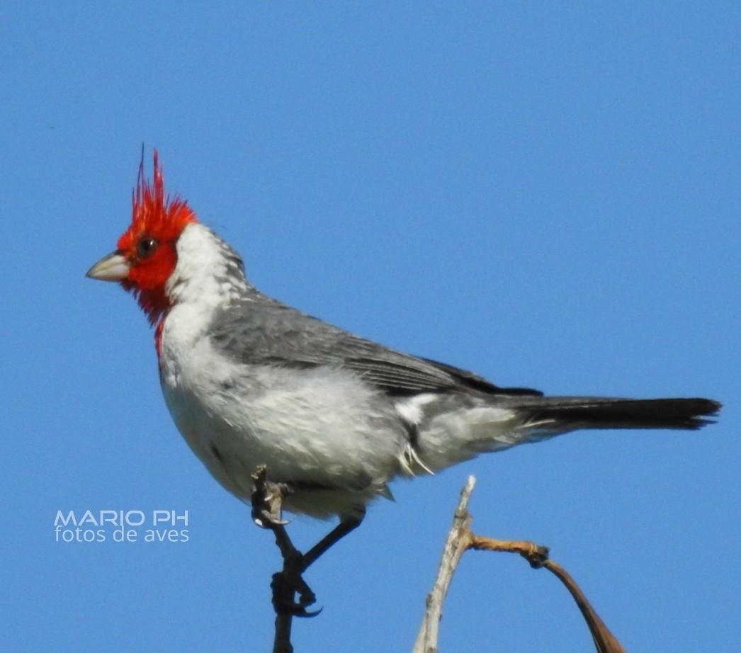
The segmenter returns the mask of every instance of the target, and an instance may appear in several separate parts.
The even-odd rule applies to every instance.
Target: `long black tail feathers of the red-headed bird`
[[[527,423],[548,431],[575,428],[685,428],[712,424],[720,403],[709,399],[522,397],[513,401]]]

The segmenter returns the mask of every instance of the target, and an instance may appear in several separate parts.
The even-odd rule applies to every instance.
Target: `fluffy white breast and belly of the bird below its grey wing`
[[[276,482],[336,488],[365,500],[399,473],[407,444],[402,422],[386,397],[350,372],[236,365],[205,338],[173,354],[163,338],[167,408],[190,448],[237,497],[250,497],[258,465],[267,465]],[[351,498],[339,494],[339,503]],[[299,497],[287,507],[291,503],[311,514],[339,511],[311,510]]]

